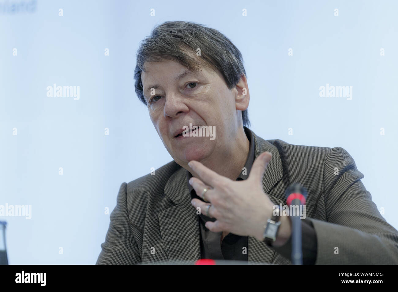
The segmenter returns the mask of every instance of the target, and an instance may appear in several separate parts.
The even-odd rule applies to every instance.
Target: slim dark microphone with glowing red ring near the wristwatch
[[[286,203],[292,220],[292,264],[302,265],[302,235],[300,209],[305,205],[307,191],[300,184],[293,184],[286,190]]]

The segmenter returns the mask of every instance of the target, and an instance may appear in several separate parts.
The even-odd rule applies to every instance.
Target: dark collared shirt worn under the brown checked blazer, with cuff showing
[[[250,170],[254,162],[254,137],[252,131],[244,127],[246,136],[249,139],[249,154],[244,165],[244,168],[240,172],[240,175],[236,180],[246,180],[249,177]],[[188,171],[187,171],[188,172]],[[192,174],[188,172],[188,180],[192,177]],[[188,182],[187,182],[188,183]],[[196,194],[195,190],[188,183],[189,191],[191,193],[191,199],[201,198]],[[208,220],[214,222],[215,218],[209,218],[203,214],[199,215],[199,225],[201,234],[201,258],[202,259],[225,259],[225,260],[236,260],[236,261],[247,261],[248,260],[248,236],[239,236],[233,233],[228,233],[221,241],[222,232],[211,232],[206,228],[205,224]],[[314,264],[316,261],[316,233],[310,220],[302,221],[302,250],[303,250],[303,263]],[[305,222],[303,222],[305,221]],[[291,237],[289,240],[280,247],[274,247],[275,251],[291,259],[292,242]],[[245,252],[244,252],[245,251]]]

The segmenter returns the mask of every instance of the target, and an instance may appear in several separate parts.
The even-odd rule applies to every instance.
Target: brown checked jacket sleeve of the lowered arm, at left
[[[141,262],[140,252],[129,225],[126,188],[127,184],[123,182],[96,265],[135,265]]]

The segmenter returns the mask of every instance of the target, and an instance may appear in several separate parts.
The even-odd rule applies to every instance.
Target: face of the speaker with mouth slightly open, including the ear
[[[144,68],[141,80],[150,119],[174,161],[185,167],[191,160],[225,156],[242,127],[241,110],[248,107],[248,95],[240,95],[247,88],[246,77],[230,90],[220,72],[206,67],[190,72],[164,60],[146,62]],[[215,139],[176,137],[189,124],[212,127]]]

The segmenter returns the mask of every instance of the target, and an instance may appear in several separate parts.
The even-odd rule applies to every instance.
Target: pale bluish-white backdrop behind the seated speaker
[[[0,217],[9,263],[94,264],[121,183],[172,160],[133,83],[139,42],[168,20],[230,38],[244,58],[251,129],[346,149],[398,228],[397,6],[0,0],[0,205],[31,206],[31,219]],[[54,83],[79,87],[78,100],[48,97]],[[352,86],[352,99],[320,97],[327,84]]]

